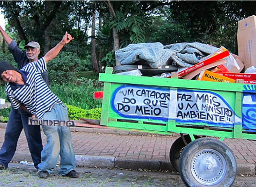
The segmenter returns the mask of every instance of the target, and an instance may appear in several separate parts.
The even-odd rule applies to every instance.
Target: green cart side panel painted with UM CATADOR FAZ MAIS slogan
[[[163,132],[189,124],[234,127],[234,92],[118,83],[110,92],[108,126]]]

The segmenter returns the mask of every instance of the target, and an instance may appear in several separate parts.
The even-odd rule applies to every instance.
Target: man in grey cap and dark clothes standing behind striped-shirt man
[[[0,34],[3,36],[3,40],[8,44],[8,50],[15,59],[18,69],[23,68],[29,62],[38,60],[38,55],[41,52],[38,42],[29,42],[24,47],[26,52],[23,52],[17,47],[17,43],[12,40],[11,37],[9,37],[1,26]],[[47,85],[49,85],[47,72],[44,72],[42,77],[44,78],[44,81],[47,82]],[[31,116],[31,113],[28,113],[21,108],[17,110],[15,110],[13,107],[11,108],[9,120],[6,125],[6,131],[4,133],[4,142],[0,150],[0,170],[5,170],[8,168],[8,164],[15,154],[17,142],[22,130],[24,130],[34,166],[36,169],[38,169],[38,164],[41,162],[43,143],[41,139],[40,126],[28,125],[29,117]]]

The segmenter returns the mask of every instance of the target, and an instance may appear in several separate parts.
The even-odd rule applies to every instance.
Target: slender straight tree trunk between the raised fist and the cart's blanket
[[[96,11],[93,11],[92,20],[92,36],[91,36],[91,61],[93,65],[93,72],[98,74],[99,67],[96,59],[96,41],[95,41],[95,26],[96,26]]]

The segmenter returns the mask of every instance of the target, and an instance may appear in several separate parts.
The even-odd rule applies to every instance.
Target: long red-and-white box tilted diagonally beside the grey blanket
[[[219,59],[223,59],[223,58],[225,58],[225,57],[227,57],[229,55],[230,55],[229,51],[227,51],[226,48],[221,46],[214,53],[209,54],[207,57],[204,57],[203,59],[201,59],[199,63],[197,63],[195,65],[192,65],[191,67],[186,68],[183,71],[178,72],[178,76],[179,77],[183,77],[183,76],[185,76],[186,74],[189,74],[192,71],[195,71],[195,70],[197,70],[197,69],[199,69],[201,67],[209,65],[209,64],[211,64],[211,63],[213,63],[213,62],[215,62],[215,61],[217,61]]]

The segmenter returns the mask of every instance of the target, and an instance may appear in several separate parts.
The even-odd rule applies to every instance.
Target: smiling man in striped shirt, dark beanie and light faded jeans
[[[21,70],[5,61],[0,62],[1,79],[6,83],[6,93],[13,108],[23,108],[38,119],[68,121],[67,107],[50,91],[42,78],[47,71],[47,62],[54,59],[65,44],[73,37],[65,33],[61,42],[35,62],[30,62]],[[76,172],[76,159],[71,141],[69,127],[42,126],[47,143],[41,152],[41,163],[38,164],[38,176],[48,178],[55,168],[58,156],[61,156],[59,174],[71,178],[79,177]]]

